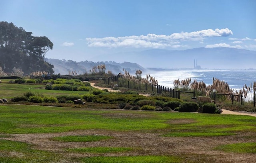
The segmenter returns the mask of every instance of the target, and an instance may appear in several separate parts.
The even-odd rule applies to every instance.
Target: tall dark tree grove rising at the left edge
[[[32,32],[13,23],[0,22],[0,67],[11,73],[14,67],[25,74],[33,71],[50,71],[53,65],[44,61],[53,43],[46,36],[33,36]]]

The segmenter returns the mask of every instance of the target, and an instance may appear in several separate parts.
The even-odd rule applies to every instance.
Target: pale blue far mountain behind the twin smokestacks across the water
[[[203,69],[255,69],[256,51],[228,47],[194,48],[187,50],[150,49],[97,56],[92,60],[135,62],[142,67],[180,69],[194,68],[194,60]],[[120,57],[122,56],[122,57]]]

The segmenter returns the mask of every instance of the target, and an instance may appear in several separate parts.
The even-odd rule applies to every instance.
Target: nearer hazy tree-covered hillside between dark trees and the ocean
[[[130,63],[130,62],[124,62],[124,63],[116,63],[114,61],[105,61],[105,62],[92,62],[92,61],[81,61],[76,62],[72,60],[60,60],[60,59],[46,59],[46,61],[52,65],[54,65],[54,73],[66,75],[69,71],[76,71],[78,74],[84,74],[86,72],[90,72],[90,69],[92,67],[97,65],[106,65],[106,72],[109,70],[113,74],[118,73],[124,73],[123,69],[126,69],[126,71],[129,71],[130,74],[134,74],[137,69],[142,70],[143,72],[146,71],[143,67],[138,65],[137,63]]]

